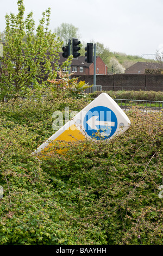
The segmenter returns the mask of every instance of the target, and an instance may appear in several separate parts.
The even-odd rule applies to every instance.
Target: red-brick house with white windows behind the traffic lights
[[[62,57],[62,53],[59,53],[59,65],[65,62],[65,58]],[[63,70],[66,71],[66,70]],[[96,57],[96,75],[107,75],[107,65],[103,60],[97,56]],[[78,59],[72,59],[71,72],[76,75],[93,75],[94,74],[94,63],[85,62],[85,56],[79,56]]]

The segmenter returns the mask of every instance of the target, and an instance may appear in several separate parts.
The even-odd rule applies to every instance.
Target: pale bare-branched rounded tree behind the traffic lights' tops
[[[59,27],[54,29],[54,32],[63,41],[64,45],[68,44],[68,39],[78,38],[78,28],[68,23],[61,23]]]

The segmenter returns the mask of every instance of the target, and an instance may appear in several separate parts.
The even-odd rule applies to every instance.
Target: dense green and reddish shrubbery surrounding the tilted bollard
[[[32,153],[54,133],[53,112],[87,105],[67,94],[1,102],[0,244],[161,245],[161,113],[132,109],[110,143],[56,143],[40,161]]]

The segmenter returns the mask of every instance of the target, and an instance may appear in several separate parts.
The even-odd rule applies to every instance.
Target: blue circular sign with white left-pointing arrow
[[[95,139],[108,139],[117,129],[117,117],[108,107],[97,106],[91,108],[83,121],[87,135]]]

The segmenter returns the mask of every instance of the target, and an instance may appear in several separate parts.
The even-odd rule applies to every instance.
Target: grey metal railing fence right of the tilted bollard
[[[143,112],[162,111],[163,101],[149,101],[149,100],[126,100],[114,99],[117,104],[124,110],[129,110],[131,107],[136,106]]]

